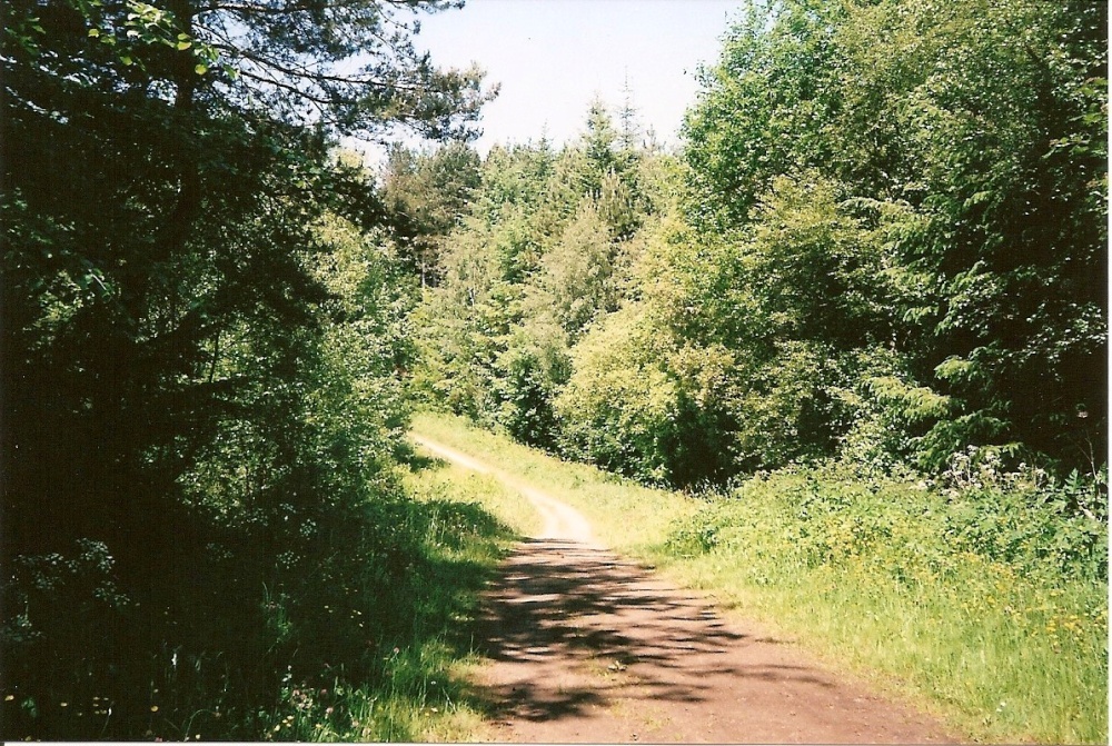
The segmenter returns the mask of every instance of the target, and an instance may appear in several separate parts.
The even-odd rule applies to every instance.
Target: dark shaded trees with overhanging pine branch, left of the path
[[[259,662],[290,653],[265,594],[318,640],[299,673],[327,660],[305,567],[375,556],[407,355],[404,289],[336,302],[334,275],[394,259],[329,222],[386,217],[334,145],[463,135],[478,74],[437,71],[405,20],[443,7],[4,4],[3,663],[32,700],[111,696],[99,737],[142,736],[163,650],[225,666],[179,724],[219,676],[256,712],[280,684]],[[6,736],[90,734],[21,718]]]

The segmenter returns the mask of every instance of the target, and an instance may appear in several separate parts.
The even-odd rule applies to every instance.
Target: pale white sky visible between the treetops
[[[425,16],[415,39],[439,67],[486,70],[502,86],[484,107],[480,153],[495,143],[559,146],[584,129],[597,93],[612,113],[628,81],[642,126],[676,145],[684,111],[699,89],[701,63],[744,0],[468,0],[463,10]]]

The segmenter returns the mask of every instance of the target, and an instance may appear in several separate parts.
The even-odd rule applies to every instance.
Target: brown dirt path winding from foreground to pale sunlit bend
[[[545,516],[506,560],[476,630],[494,662],[493,737],[526,743],[937,743],[937,723],[808,660],[756,625],[594,544],[589,523],[535,487],[492,474]]]

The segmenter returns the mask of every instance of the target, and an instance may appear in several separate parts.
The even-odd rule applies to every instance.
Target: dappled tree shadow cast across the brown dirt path
[[[830,687],[812,668],[738,666],[727,651],[767,638],[728,629],[714,609],[676,595],[644,568],[586,545],[524,541],[489,588],[475,637],[509,670],[494,685],[500,717],[546,722],[588,715],[618,696],[699,703],[715,678]],[[736,660],[736,657],[731,657]],[[578,676],[569,676],[574,666]]]

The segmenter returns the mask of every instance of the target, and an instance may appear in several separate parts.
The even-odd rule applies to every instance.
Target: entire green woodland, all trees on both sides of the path
[[[678,147],[629,91],[485,156],[496,88],[414,43],[458,4],[3,4],[0,736],[419,736],[367,703],[490,520],[414,498],[424,409],[950,510],[1106,638],[1106,3],[754,2]]]

